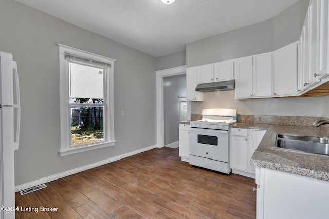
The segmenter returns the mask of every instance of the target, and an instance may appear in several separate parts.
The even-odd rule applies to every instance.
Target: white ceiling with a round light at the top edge
[[[270,19],[298,0],[16,0],[155,57]]]

